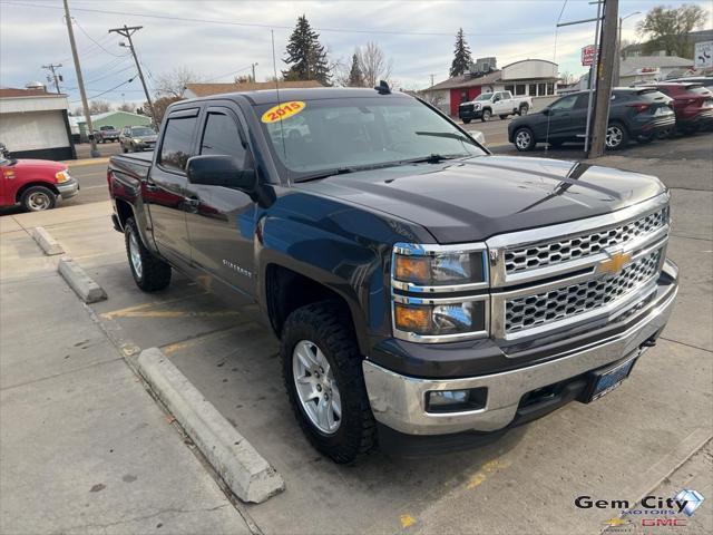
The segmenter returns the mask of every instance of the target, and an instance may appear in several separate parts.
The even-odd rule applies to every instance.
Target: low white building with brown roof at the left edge
[[[0,142],[18,158],[76,158],[68,107],[66,95],[0,88]]]

